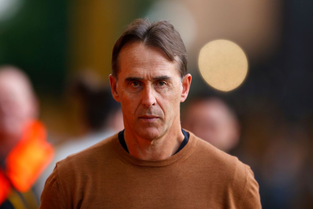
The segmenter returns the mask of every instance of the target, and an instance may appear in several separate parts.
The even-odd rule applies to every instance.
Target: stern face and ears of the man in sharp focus
[[[181,87],[177,62],[158,48],[131,42],[122,48],[119,64],[117,86],[112,76],[110,83],[113,97],[121,102],[125,128],[153,140],[180,127],[180,102],[189,85]],[[188,79],[190,84],[191,76],[184,81]]]

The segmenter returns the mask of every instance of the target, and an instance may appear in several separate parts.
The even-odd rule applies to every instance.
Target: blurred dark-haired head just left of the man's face
[[[96,73],[88,71],[74,79],[71,94],[81,104],[87,133],[124,129],[121,104],[113,99],[110,87],[100,83]]]

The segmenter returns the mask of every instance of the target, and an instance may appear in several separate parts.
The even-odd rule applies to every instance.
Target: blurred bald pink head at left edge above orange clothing
[[[36,102],[26,77],[18,71],[0,71],[0,143],[18,140],[24,126],[37,115]]]

